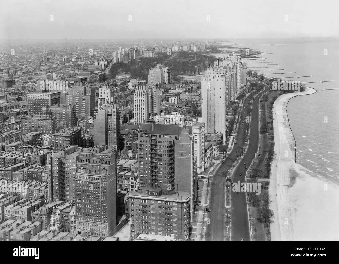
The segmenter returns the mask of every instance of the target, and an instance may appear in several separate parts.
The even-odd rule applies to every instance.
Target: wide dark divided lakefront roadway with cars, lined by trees
[[[259,111],[257,104],[259,104],[258,96],[262,96],[263,93],[267,92],[268,88],[265,88],[263,92],[260,92],[258,95],[254,96],[253,107],[252,107],[252,116],[250,122],[250,137],[248,140],[248,148],[244,156],[240,158],[238,165],[234,168],[231,174],[231,180],[233,182],[241,181],[245,182],[246,170],[248,165],[251,164],[252,159],[254,159],[256,151],[259,144],[259,129],[258,129],[258,117]],[[252,93],[253,95],[255,92]],[[251,94],[248,95],[243,103],[241,112],[244,112],[244,106],[247,106],[247,102],[250,102]],[[243,114],[246,116],[246,114]],[[246,126],[239,126],[237,131],[237,145],[242,146],[242,131]],[[207,226],[206,229],[206,240],[225,240],[225,177],[226,172],[232,168],[232,161],[230,158],[236,155],[236,145],[233,147],[231,153],[226,157],[225,162],[221,164],[218,169],[216,169],[213,181],[211,184],[211,193],[210,193],[210,204],[209,208],[211,212],[208,213],[208,217],[211,220],[211,225]],[[247,169],[245,169],[246,163]],[[222,172],[225,174],[222,174]],[[239,173],[242,175],[240,176]],[[219,175],[219,176],[218,176]],[[250,226],[248,222],[248,212],[247,212],[247,201],[246,193],[239,192],[233,193],[231,191],[231,201],[230,201],[230,215],[231,215],[231,240],[251,240]]]

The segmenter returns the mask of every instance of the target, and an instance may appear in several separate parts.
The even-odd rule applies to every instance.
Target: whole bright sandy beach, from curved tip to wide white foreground
[[[273,127],[276,158],[270,179],[272,240],[338,240],[339,186],[294,161],[295,141],[286,106],[298,95],[313,94],[307,88],[288,93],[274,102]],[[292,181],[291,181],[292,179]]]

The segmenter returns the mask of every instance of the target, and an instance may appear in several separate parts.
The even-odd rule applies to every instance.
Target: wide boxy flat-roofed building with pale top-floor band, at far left
[[[60,91],[48,93],[27,94],[27,108],[29,115],[43,114],[42,108],[60,103]]]

